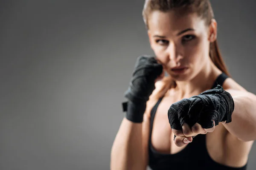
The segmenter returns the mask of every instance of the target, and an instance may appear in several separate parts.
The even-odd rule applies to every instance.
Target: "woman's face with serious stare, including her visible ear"
[[[192,79],[209,63],[216,23],[206,26],[195,13],[177,16],[175,11],[153,11],[148,28],[152,50],[175,80]]]

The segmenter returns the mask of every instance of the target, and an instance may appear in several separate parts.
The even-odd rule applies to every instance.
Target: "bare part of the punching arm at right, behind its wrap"
[[[225,90],[231,94],[235,108],[232,122],[223,122],[224,127],[239,140],[256,140],[256,95],[248,91]]]

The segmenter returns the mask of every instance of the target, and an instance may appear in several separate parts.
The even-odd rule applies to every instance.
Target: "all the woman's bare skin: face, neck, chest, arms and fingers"
[[[217,38],[217,22],[212,20],[206,25],[196,14],[177,16],[175,11],[154,11],[148,18],[148,27],[154,54],[177,84],[165,91],[157,109],[151,136],[154,149],[160,153],[178,153],[188,145],[186,139],[193,142],[192,136],[206,134],[207,150],[214,161],[231,167],[246,164],[256,139],[256,96],[233,79],[228,78],[223,84],[235,103],[232,122],[220,122],[211,129],[203,129],[199,124],[190,128],[185,124],[183,130],[177,131],[171,129],[167,116],[172,103],[210,89],[221,74],[209,57],[209,45]],[[185,69],[174,71],[177,67]],[[162,94],[159,90],[162,86],[165,86],[164,79],[156,82],[142,123],[122,120],[111,150],[111,170],[146,169],[150,111],[158,100],[156,94]]]

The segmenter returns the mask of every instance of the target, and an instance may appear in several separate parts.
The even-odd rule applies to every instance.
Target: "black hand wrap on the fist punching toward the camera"
[[[199,123],[203,128],[213,127],[219,122],[229,123],[234,111],[234,101],[230,93],[218,85],[216,88],[204,91],[198,96],[175,102],[168,110],[168,119],[172,129],[182,130],[183,123],[190,127]]]

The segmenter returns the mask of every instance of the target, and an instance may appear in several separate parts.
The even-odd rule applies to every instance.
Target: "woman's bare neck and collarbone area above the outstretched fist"
[[[212,85],[220,74],[221,71],[210,61],[192,79],[188,81],[177,81],[176,91],[180,94],[181,99],[200,94],[212,88]]]

